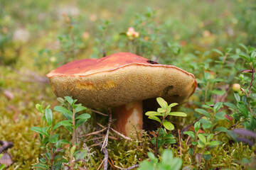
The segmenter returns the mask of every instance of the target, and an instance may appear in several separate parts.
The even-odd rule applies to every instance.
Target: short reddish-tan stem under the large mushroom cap
[[[117,118],[116,130],[124,135],[130,135],[132,130],[141,130],[143,127],[142,101],[127,103],[114,108]]]

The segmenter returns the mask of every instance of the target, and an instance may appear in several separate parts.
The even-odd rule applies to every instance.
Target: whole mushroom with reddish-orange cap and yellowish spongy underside
[[[47,77],[55,96],[73,96],[88,108],[114,108],[116,130],[124,135],[142,129],[142,101],[181,103],[197,86],[193,74],[129,52],[70,62]]]

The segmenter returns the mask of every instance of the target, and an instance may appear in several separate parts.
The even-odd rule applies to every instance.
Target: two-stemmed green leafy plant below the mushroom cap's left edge
[[[42,121],[45,125],[42,128],[31,128],[32,131],[38,132],[41,140],[41,149],[44,151],[43,157],[39,159],[40,162],[34,165],[37,169],[60,169],[63,163],[68,164],[70,169],[75,169],[78,161],[86,155],[84,150],[77,149],[75,130],[82,123],[85,123],[90,118],[90,115],[87,113],[78,115],[80,111],[84,111],[86,108],[81,104],[75,104],[77,100],[73,100],[70,96],[65,96],[64,98],[58,98],[62,106],[55,106],[54,110],[63,113],[66,120],[61,120],[55,125],[53,125],[53,111],[50,109],[50,105],[46,106],[45,109],[43,109],[43,103],[36,105],[38,111],[42,113]],[[61,126],[64,126],[66,130],[72,133],[71,142],[59,139],[60,134],[56,133],[56,129]],[[69,145],[69,160],[64,156],[65,148],[62,144]]]

